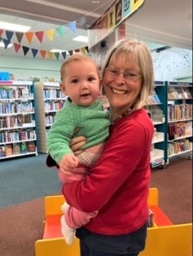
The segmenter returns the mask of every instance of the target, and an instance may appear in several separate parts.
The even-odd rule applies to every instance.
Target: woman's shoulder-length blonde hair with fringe
[[[116,63],[116,57],[119,54],[123,57],[123,62],[132,62],[132,65],[139,69],[142,77],[140,95],[133,109],[136,110],[147,104],[148,95],[152,93],[154,84],[152,54],[144,42],[137,39],[122,39],[116,42],[108,51],[102,67],[102,78],[104,78],[104,70],[109,62]]]

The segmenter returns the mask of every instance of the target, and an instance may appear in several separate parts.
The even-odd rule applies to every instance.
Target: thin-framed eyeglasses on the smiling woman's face
[[[131,71],[131,70],[125,70],[123,72],[123,71],[117,70],[115,67],[112,67],[112,66],[106,67],[105,70],[107,71],[108,76],[111,78],[118,78],[120,74],[123,74],[124,79],[127,82],[129,81],[136,82],[141,78],[140,74],[136,74],[134,71]]]

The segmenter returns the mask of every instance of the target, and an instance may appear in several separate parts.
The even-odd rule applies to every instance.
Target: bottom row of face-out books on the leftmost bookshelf
[[[36,151],[35,142],[7,144],[6,146],[0,146],[0,158],[6,158],[10,155],[26,154]]]

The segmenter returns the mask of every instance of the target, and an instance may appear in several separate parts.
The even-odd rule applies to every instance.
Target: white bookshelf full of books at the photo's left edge
[[[0,160],[37,155],[33,82],[0,81]]]

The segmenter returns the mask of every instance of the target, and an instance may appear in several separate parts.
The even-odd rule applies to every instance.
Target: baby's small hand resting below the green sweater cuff
[[[61,158],[61,162],[59,163],[60,169],[63,172],[73,172],[73,169],[77,167],[79,163],[78,158],[73,154],[65,154],[63,158]]]

